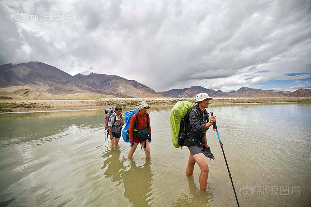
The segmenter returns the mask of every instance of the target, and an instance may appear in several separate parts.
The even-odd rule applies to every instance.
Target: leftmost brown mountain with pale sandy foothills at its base
[[[103,91],[72,75],[36,61],[0,65],[0,87],[1,91],[32,99],[106,97]]]

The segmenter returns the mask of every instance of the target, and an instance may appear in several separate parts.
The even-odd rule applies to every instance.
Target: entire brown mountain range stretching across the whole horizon
[[[211,97],[311,97],[311,90],[270,91],[243,87],[222,92],[201,86],[156,92],[135,80],[117,75],[90,73],[72,76],[56,67],[32,61],[0,65],[0,96],[13,99],[61,99],[105,97],[195,97],[206,92]]]

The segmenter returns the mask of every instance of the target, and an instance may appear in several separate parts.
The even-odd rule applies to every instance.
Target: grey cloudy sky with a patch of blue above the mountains
[[[311,88],[309,0],[2,0],[0,24],[0,64],[40,61],[156,91]]]

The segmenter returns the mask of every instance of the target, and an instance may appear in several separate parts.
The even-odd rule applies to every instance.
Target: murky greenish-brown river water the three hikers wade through
[[[174,148],[171,107],[148,110],[151,159],[121,139],[110,150],[104,110],[0,114],[0,206],[236,206],[218,137],[207,142],[207,190],[189,151]],[[123,109],[123,114],[126,109]],[[210,105],[241,206],[309,206],[311,103]]]

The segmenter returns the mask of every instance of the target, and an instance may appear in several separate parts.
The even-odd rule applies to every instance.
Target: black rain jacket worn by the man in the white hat
[[[206,123],[208,122],[208,113],[204,109],[204,115],[198,105],[192,107],[189,117],[187,120],[187,128],[190,130],[190,133],[187,137],[196,138],[195,143],[201,142],[204,144],[204,135],[206,133]],[[192,129],[191,129],[192,128]]]

